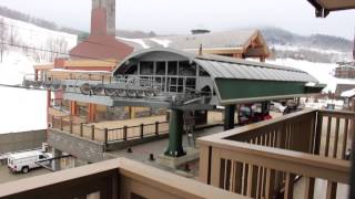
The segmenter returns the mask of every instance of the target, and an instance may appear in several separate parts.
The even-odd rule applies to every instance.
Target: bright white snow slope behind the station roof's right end
[[[355,80],[336,78],[333,76],[335,69],[337,67],[336,64],[314,63],[293,59],[277,59],[275,61],[267,60],[266,62],[291,66],[307,72],[316,77],[320,83],[327,85],[323,92],[331,91],[334,93],[337,84],[355,84]]]

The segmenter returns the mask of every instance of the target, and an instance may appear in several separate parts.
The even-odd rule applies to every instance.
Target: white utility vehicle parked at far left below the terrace
[[[52,155],[49,153],[43,153],[41,150],[30,150],[10,154],[8,156],[8,167],[12,172],[28,172],[30,169],[40,167],[40,165],[36,164],[40,160],[45,160],[51,158]],[[41,163],[42,165],[49,165],[50,161]]]

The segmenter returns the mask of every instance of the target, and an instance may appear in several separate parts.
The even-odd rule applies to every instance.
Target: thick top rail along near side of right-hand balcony
[[[245,160],[253,165],[262,163],[263,166],[272,169],[348,184],[351,163],[347,160],[227,139],[216,142],[201,139],[200,144],[229,150],[227,158],[231,159]]]

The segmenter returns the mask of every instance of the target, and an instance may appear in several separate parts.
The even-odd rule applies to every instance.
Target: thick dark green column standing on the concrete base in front
[[[169,147],[165,151],[166,156],[180,157],[185,155],[182,147],[183,124],[183,112],[180,109],[171,109],[169,119]]]

